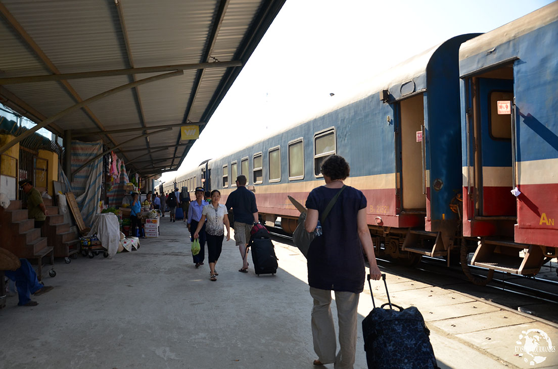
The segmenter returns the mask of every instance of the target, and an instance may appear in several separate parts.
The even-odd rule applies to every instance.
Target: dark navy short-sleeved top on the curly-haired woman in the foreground
[[[306,199],[306,207],[325,211],[340,188],[320,186]],[[366,207],[366,198],[347,186],[322,222],[323,234],[315,237],[308,250],[310,287],[360,293],[364,287],[364,258],[358,238],[357,213]]]

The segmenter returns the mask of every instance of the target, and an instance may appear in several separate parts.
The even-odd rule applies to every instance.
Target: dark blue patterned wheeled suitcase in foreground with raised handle
[[[388,303],[377,308],[372,295],[374,308],[362,321],[368,368],[437,368],[430,344],[430,331],[419,309],[414,306],[403,309],[392,304],[385,274],[382,274],[382,279],[386,285]],[[368,286],[372,294],[369,274]],[[384,309],[387,305],[389,309]]]

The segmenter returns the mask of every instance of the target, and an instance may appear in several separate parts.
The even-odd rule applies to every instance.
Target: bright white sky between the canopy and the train
[[[437,43],[488,32],[551,2],[287,0],[179,171],[161,180],[318,113]]]

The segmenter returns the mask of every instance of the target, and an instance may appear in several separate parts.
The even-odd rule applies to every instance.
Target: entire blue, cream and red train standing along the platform
[[[304,203],[324,183],[321,163],[339,154],[351,166],[346,183],[367,197],[378,254],[449,264],[461,251],[475,283],[487,281],[468,273],[475,250],[474,264],[535,274],[558,246],[557,17],[555,2],[484,35],[451,38],[315,118],[175,182],[217,188],[224,202],[244,174],[261,219],[281,217],[292,233],[299,211],[287,195]]]

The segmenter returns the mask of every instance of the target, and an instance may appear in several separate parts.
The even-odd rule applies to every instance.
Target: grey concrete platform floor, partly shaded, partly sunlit
[[[238,248],[225,242],[213,282],[207,262],[194,267],[185,224],[168,220],[138,251],[57,263],[56,277],[45,279],[55,289],[34,298],[37,307],[8,298],[0,310],[0,368],[315,368],[304,256],[276,240],[278,273],[257,277],[251,261],[248,274],[237,271]],[[556,328],[387,273],[392,302],[416,305],[425,316],[440,367],[558,365],[555,352],[530,366],[514,348],[523,347],[518,337],[527,329],[558,342]],[[381,282],[373,289],[377,303],[387,302]],[[371,309],[365,285],[359,327]],[[354,367],[366,367],[362,333]]]

